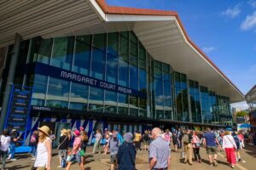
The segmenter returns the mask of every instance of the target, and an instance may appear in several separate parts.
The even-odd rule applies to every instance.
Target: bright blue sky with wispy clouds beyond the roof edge
[[[256,84],[256,0],[107,0],[177,11],[189,37],[243,94]],[[246,102],[233,104],[246,109]]]

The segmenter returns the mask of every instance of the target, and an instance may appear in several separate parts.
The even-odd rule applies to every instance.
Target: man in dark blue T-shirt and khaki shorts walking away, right
[[[206,146],[207,149],[207,155],[210,161],[210,166],[218,166],[217,162],[217,153],[218,153],[218,139],[216,138],[215,134],[212,133],[212,130],[210,127],[207,128],[207,133],[203,135],[203,144]],[[218,146],[217,146],[218,144]],[[212,155],[213,155],[213,161],[212,161]]]

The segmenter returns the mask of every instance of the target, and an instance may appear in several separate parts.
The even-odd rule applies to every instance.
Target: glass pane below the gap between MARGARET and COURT
[[[103,112],[104,90],[90,87],[89,111]]]

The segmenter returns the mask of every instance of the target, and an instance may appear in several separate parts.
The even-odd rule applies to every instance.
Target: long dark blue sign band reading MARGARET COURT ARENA
[[[29,70],[29,69],[28,69]],[[81,75],[79,73],[73,71],[63,70],[61,68],[57,68],[51,65],[45,65],[43,63],[36,63],[34,68],[35,73],[40,75],[61,78],[63,80],[78,82],[84,85],[88,85],[96,88],[103,88],[107,90],[111,90],[114,92],[118,92],[121,94],[127,94],[132,96],[139,96],[141,98],[147,98],[147,94],[143,92],[139,92],[137,90],[126,88],[123,86],[119,86],[117,84],[113,84],[111,82],[105,82],[100,79],[96,79],[94,77],[87,77]]]

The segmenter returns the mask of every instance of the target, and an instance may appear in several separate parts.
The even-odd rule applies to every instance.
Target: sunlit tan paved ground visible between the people
[[[105,156],[103,154],[90,155],[91,147],[88,147],[88,156],[85,161],[85,170],[108,170],[109,168],[109,155]],[[201,157],[202,163],[194,162],[192,166],[188,164],[183,164],[181,161],[181,150],[178,150],[177,153],[172,151],[172,170],[222,170],[222,169],[231,169],[227,166],[225,153],[218,153],[218,167],[210,167],[207,161],[207,155],[205,148],[201,148]],[[31,161],[31,157],[27,157],[27,155],[17,155],[17,161],[12,161],[7,163],[7,167],[10,170],[27,170],[32,167],[33,161]],[[241,170],[254,170],[256,169],[256,147],[252,145],[247,145],[244,150],[241,150],[241,158],[245,162],[239,162],[235,169]],[[58,166],[58,157],[56,150],[53,152],[52,157],[52,168],[51,169],[61,169],[57,168]],[[148,152],[147,151],[139,151],[137,153],[136,160],[137,170],[147,170],[148,167]],[[73,164],[71,169],[79,169],[78,163]]]

